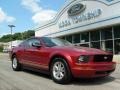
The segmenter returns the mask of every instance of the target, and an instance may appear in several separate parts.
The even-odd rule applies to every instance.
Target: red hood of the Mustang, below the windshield
[[[68,52],[81,53],[81,54],[109,54],[108,52],[100,49],[79,47],[79,46],[55,46],[54,48]]]

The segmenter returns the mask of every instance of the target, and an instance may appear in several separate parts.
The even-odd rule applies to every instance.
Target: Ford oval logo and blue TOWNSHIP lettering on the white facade
[[[95,10],[89,11],[87,13],[82,13],[80,15],[76,15],[76,14],[78,14],[78,12],[81,13],[81,10],[83,11],[83,8],[81,8],[81,7],[84,7],[84,6],[73,6],[72,8],[70,8],[68,10],[68,15],[69,16],[72,15],[72,16],[66,20],[61,21],[59,23],[59,28],[64,28],[64,27],[71,26],[73,24],[78,24],[78,23],[81,23],[81,22],[84,22],[87,20],[91,20],[91,19],[94,19],[102,14],[101,9],[95,9]],[[73,8],[75,8],[75,11],[72,11]],[[85,10],[85,7],[84,7],[84,10]],[[75,12],[75,14],[73,14],[73,12]]]

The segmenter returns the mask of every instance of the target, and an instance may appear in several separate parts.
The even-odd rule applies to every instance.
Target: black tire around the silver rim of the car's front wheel
[[[63,77],[61,78],[56,78],[56,75],[54,74],[54,72],[57,72],[57,71],[54,71],[54,68],[55,68],[55,65],[57,65],[57,63],[61,63],[64,67],[64,72],[62,73]],[[59,84],[68,84],[70,83],[71,79],[72,79],[72,75],[71,75],[71,71],[70,71],[70,68],[69,68],[69,65],[68,63],[65,61],[65,59],[63,58],[54,58],[52,64],[51,64],[51,67],[50,67],[50,73],[51,73],[51,77],[53,79],[54,82],[56,83],[59,83]],[[60,71],[59,71],[59,74],[60,74]]]

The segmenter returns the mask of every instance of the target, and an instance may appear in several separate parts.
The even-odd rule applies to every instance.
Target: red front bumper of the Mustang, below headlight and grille
[[[103,77],[108,76],[115,68],[115,62],[76,64],[75,67],[72,68],[72,74],[74,77],[81,78]]]

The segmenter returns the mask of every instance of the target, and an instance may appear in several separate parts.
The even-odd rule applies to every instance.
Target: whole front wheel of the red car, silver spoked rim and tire
[[[51,76],[56,83],[66,84],[71,80],[71,72],[63,58],[55,58],[51,65]]]

